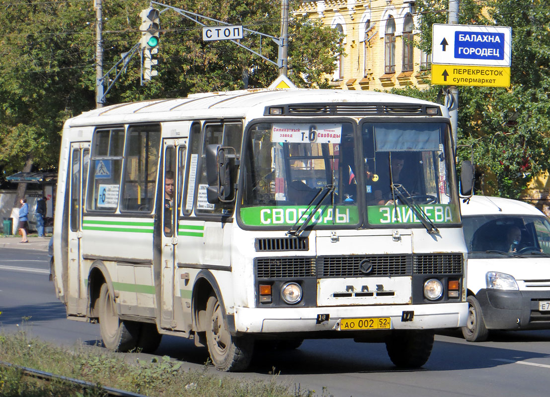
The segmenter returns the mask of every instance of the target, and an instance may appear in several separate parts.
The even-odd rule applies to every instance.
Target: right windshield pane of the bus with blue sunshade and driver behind
[[[456,223],[458,197],[447,125],[362,125],[368,223]]]

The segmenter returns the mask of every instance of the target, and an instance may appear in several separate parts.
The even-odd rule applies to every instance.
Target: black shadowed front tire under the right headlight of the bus
[[[386,350],[393,364],[418,368],[426,364],[433,347],[433,332],[423,329],[395,330],[386,339]]]

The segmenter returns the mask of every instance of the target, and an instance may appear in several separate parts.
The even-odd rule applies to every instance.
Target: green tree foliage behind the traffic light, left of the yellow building
[[[106,72],[139,41],[139,13],[150,3],[102,3]],[[167,0],[166,4],[266,35],[281,35],[279,0]],[[64,120],[96,107],[92,5],[91,0],[0,0],[0,24],[9,32],[0,38],[0,173],[21,170],[29,158],[39,168],[55,167]],[[290,15],[289,78],[300,87],[327,86],[323,75],[333,71],[342,51],[339,33],[306,23],[301,16],[292,18],[292,9]],[[202,41],[201,25],[173,10],[161,13],[161,28],[158,76],[141,85],[140,57],[134,56],[113,83],[107,104],[266,87],[278,75],[276,66],[232,42]],[[249,34],[240,42],[277,61],[278,48],[271,38]]]

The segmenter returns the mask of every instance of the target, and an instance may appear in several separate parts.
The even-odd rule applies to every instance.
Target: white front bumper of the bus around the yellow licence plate
[[[234,309],[238,333],[332,331],[339,329],[342,318],[389,317],[391,329],[454,328],[464,327],[468,316],[467,303]]]

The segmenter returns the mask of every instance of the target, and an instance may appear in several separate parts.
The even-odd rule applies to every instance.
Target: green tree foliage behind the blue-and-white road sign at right
[[[511,27],[511,86],[459,87],[458,143],[474,148],[478,188],[518,198],[535,175],[550,169],[550,9],[541,0],[482,4],[483,13],[480,3],[461,1],[459,23]],[[417,7],[418,45],[431,52],[431,25],[447,21],[448,0],[419,0]],[[434,100],[436,90],[413,95]]]

